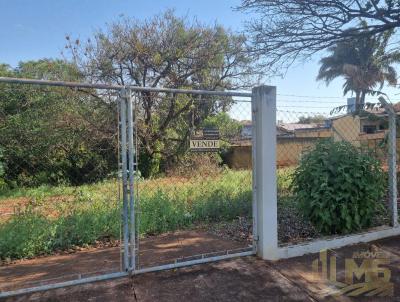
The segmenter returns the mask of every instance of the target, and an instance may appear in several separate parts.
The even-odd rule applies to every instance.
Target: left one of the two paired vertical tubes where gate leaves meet
[[[122,163],[122,230],[124,240],[124,270],[129,269],[129,225],[128,225],[128,165],[126,145],[126,91],[120,92],[120,121],[121,121],[121,163]]]

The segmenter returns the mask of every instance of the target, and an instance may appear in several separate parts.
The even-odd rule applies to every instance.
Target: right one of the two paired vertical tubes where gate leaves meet
[[[136,267],[136,221],[135,221],[135,195],[134,195],[134,181],[135,181],[135,146],[133,143],[133,102],[132,92],[127,91],[128,101],[128,161],[129,161],[129,213],[130,213],[130,271],[134,271]]]

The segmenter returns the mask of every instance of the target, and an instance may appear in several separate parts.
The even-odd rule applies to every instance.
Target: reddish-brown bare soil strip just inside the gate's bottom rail
[[[246,248],[247,244],[201,231],[180,231],[140,240],[139,265],[150,267],[199,254]],[[120,247],[22,260],[0,266],[0,291],[57,283],[121,270]]]

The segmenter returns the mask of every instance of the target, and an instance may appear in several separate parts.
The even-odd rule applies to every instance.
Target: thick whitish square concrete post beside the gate
[[[274,260],[278,258],[276,87],[253,88],[252,112],[257,255]]]

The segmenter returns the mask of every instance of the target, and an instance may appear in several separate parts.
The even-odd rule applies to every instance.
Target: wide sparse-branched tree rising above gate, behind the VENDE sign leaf
[[[223,90],[253,83],[246,39],[222,26],[205,26],[172,11],[154,18],[111,23],[86,42],[67,37],[69,54],[90,81]],[[139,169],[145,177],[178,156],[190,128],[226,111],[230,99],[170,93],[138,95]]]

